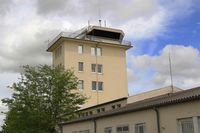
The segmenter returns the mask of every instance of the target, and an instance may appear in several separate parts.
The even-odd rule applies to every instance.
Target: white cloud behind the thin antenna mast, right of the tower
[[[150,84],[155,87],[168,86],[171,83],[169,51],[171,53],[174,85],[183,89],[200,85],[200,52],[192,46],[167,45],[156,56],[132,56],[132,69],[143,73],[153,71],[151,75],[141,75],[140,79],[148,77]],[[144,87],[144,89],[148,88]]]

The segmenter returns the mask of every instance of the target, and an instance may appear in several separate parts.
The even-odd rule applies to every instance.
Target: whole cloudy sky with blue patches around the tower
[[[200,86],[199,0],[0,0],[0,99],[21,66],[51,64],[47,42],[98,20],[125,32],[129,95]],[[6,107],[0,102],[0,112]],[[4,115],[0,113],[0,125]]]

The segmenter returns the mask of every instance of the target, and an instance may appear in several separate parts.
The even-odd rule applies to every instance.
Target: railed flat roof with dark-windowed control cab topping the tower
[[[51,51],[51,47],[57,42],[65,39],[72,40],[83,40],[83,41],[93,41],[100,43],[109,43],[125,46],[128,48],[132,47],[130,41],[123,40],[124,32],[119,29],[101,27],[101,26],[88,26],[84,27],[75,32],[61,32],[57,35],[49,44],[47,51]]]

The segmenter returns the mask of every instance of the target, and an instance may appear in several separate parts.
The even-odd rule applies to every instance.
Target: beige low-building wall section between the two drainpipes
[[[156,133],[156,125],[154,124],[156,123],[155,112],[152,110],[99,119],[97,121],[97,133],[104,133],[105,127],[112,127],[112,133],[116,133],[116,128],[121,125],[128,125],[129,133],[134,133],[134,125],[138,123],[145,123],[148,133]]]

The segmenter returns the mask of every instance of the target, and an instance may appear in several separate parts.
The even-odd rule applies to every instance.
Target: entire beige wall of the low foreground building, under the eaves
[[[160,112],[161,133],[179,133],[179,119],[200,117],[200,101],[160,107],[158,110]],[[157,133],[156,113],[153,109],[105,117],[96,121],[97,133],[104,133],[105,127],[112,127],[112,133],[116,133],[116,127],[121,125],[128,125],[129,133],[135,133],[135,125],[138,123],[145,123],[145,133]],[[74,130],[80,131],[82,129],[90,129],[90,133],[94,133],[93,121],[74,123],[63,127],[63,133],[72,133]]]

